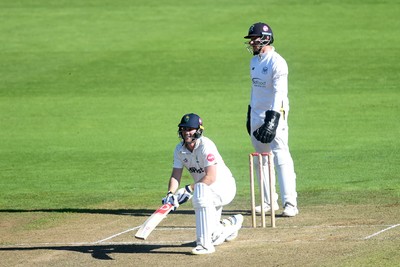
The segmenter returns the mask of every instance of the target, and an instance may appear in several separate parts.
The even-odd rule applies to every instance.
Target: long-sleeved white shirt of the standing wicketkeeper
[[[288,66],[274,47],[265,54],[256,55],[250,62],[252,81],[250,106],[261,118],[265,111],[289,112]]]

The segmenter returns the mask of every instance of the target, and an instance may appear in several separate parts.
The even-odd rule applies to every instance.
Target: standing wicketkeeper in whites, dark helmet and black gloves
[[[251,25],[244,38],[249,39],[245,44],[247,50],[253,54],[250,61],[251,95],[247,112],[247,131],[256,152],[272,151],[284,208],[282,215],[293,217],[299,211],[296,174],[288,145],[288,66],[272,46],[274,35],[269,25],[263,22]],[[255,164],[258,166],[258,162]],[[263,162],[263,168],[264,173],[268,173],[266,162]],[[266,197],[265,203],[256,207],[256,211],[269,211],[271,198],[274,208],[278,210],[278,195],[269,195],[267,177],[258,179],[264,179]],[[273,187],[275,188],[275,185]]]

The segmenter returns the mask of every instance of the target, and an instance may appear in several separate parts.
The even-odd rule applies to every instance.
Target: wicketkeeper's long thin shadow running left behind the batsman
[[[24,212],[59,212],[59,213],[86,213],[86,214],[110,214],[110,215],[128,215],[128,216],[150,216],[155,209],[0,209],[0,213],[24,213]],[[174,214],[194,214],[193,209],[178,209]],[[250,214],[249,210],[223,210],[223,215],[234,215],[241,213]]]

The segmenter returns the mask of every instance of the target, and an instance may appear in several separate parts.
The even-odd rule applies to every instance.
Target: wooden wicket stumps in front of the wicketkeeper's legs
[[[254,191],[254,159],[258,159],[258,173],[260,179],[260,201],[261,201],[261,207],[264,205],[264,171],[263,171],[263,159],[268,160],[268,182],[269,182],[269,195],[270,199],[273,197],[273,188],[275,183],[272,182],[272,179],[275,179],[273,176],[273,162],[272,162],[272,154],[271,153],[250,153],[249,154],[249,166],[250,166],[250,194],[251,194],[251,219],[252,219],[252,226],[253,228],[257,227],[256,223],[256,201],[255,201],[255,191]],[[275,209],[273,207],[274,201],[270,201],[270,207],[271,207],[271,227],[275,227]],[[265,228],[265,211],[263,208],[261,208],[261,227]]]

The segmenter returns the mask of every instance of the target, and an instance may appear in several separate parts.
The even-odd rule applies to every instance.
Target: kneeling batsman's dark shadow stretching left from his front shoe
[[[113,260],[110,254],[113,253],[155,253],[155,254],[183,254],[189,255],[190,252],[163,250],[169,248],[195,247],[195,242],[184,243],[181,245],[158,245],[158,244],[124,244],[124,245],[60,245],[60,246],[32,246],[32,247],[6,247],[1,251],[34,251],[34,250],[56,250],[56,251],[72,251],[84,254],[90,254],[98,260]]]

